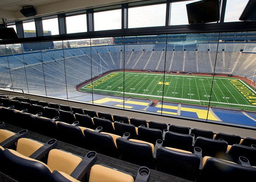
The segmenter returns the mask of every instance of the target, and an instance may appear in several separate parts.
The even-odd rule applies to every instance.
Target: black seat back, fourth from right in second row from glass
[[[139,126],[138,127],[138,139],[145,141],[145,142],[155,144],[155,142],[158,139],[163,140],[163,133],[159,129],[153,129],[153,128]]]

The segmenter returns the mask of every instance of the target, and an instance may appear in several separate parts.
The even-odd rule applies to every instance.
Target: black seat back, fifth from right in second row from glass
[[[137,139],[137,132],[133,124],[126,124],[115,121],[114,128],[116,135],[123,136],[124,133],[129,133],[131,138]]]

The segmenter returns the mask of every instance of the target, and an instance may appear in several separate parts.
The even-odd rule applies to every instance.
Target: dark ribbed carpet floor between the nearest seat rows
[[[22,128],[18,128],[16,126],[12,126],[10,124],[6,124],[6,129],[10,130],[12,132],[18,132],[20,130],[22,130]],[[34,132],[29,132],[29,136],[27,138],[31,138],[34,140],[37,140],[39,142],[47,142],[49,141],[51,138],[49,137],[45,137],[43,135],[39,135],[37,133]],[[65,150],[68,151],[70,153],[76,154],[76,155],[80,155],[80,156],[85,156],[89,150],[86,149],[82,149],[80,147],[76,147],[74,145],[70,145],[61,141],[58,141],[58,146],[56,147],[57,149],[61,149],[61,150]],[[123,171],[127,171],[129,173],[132,173],[135,177],[136,174],[138,172],[138,169],[140,168],[140,166],[134,165],[132,163],[128,163],[128,162],[124,162],[115,158],[111,158],[102,154],[97,154],[98,160],[95,164],[104,164],[104,165],[108,165],[111,167],[114,167],[116,169],[120,169]],[[87,178],[89,179],[89,175],[90,175],[90,170],[88,171],[88,176]],[[14,179],[11,179],[10,177],[8,177],[7,175],[0,173],[0,181],[15,181]],[[161,173],[155,170],[150,170],[150,182],[155,182],[155,181],[159,181],[159,182],[170,182],[170,181],[176,181],[176,182],[187,182],[188,180],[186,179],[182,179],[182,178],[178,178],[172,175],[168,175],[165,173]]]

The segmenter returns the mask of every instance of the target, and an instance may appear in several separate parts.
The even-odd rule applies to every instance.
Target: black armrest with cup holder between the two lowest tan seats
[[[86,154],[83,160],[76,166],[74,171],[70,174],[71,177],[81,180],[87,173],[88,169],[97,161],[97,153],[90,151]]]

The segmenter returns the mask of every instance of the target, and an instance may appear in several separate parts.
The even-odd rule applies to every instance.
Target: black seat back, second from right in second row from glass
[[[227,150],[227,142],[204,137],[197,137],[194,147],[202,149],[202,156],[221,158]]]

